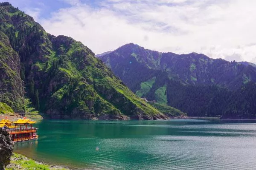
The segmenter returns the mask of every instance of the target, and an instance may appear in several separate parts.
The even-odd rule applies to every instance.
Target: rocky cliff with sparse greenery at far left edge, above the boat
[[[16,112],[24,112],[24,89],[20,78],[20,59],[0,30],[0,101]]]

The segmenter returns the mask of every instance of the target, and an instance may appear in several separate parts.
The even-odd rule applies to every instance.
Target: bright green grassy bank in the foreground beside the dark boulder
[[[17,168],[18,167],[18,168]],[[67,170],[61,167],[51,167],[48,164],[43,164],[32,159],[29,159],[20,154],[14,153],[10,164],[6,167],[6,170]]]

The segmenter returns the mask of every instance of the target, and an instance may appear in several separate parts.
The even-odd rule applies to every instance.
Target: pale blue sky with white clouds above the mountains
[[[160,52],[256,63],[256,0],[9,2],[48,33],[73,37],[95,54],[133,42]]]

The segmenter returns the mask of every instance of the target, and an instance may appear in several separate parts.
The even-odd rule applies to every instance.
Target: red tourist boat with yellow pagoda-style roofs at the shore
[[[18,119],[15,122],[10,122],[8,119],[0,121],[0,127],[6,130],[10,135],[13,142],[22,142],[33,139],[38,139],[37,128],[33,127],[35,121],[30,119]]]

